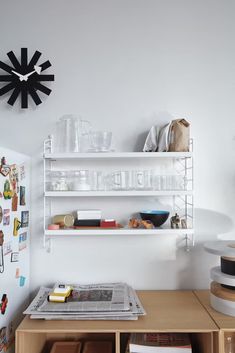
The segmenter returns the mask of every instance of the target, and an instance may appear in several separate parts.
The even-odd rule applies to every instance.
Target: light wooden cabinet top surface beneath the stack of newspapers
[[[196,292],[197,296],[199,292]],[[137,291],[147,315],[137,321],[64,321],[24,318],[27,332],[211,332],[218,327],[193,291]],[[234,325],[235,327],[235,321]]]

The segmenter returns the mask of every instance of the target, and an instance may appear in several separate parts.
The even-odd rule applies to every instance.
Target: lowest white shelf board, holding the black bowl
[[[193,234],[194,229],[130,229],[130,228],[119,228],[119,229],[62,229],[62,230],[45,230],[45,235],[50,238],[56,236],[68,236],[68,235],[183,235]]]

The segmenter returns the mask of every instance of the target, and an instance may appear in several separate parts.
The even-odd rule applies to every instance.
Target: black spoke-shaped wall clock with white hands
[[[12,91],[7,101],[8,104],[13,106],[21,94],[21,108],[26,109],[28,108],[29,96],[36,105],[42,103],[37,91],[49,96],[51,89],[42,84],[42,82],[54,81],[55,77],[54,75],[43,74],[43,71],[51,66],[49,60],[37,65],[41,55],[39,51],[35,51],[29,61],[28,49],[21,48],[20,60],[16,58],[13,51],[7,53],[12,66],[0,61],[0,69],[8,73],[7,75],[0,74],[0,82],[6,83],[0,88],[0,96]]]

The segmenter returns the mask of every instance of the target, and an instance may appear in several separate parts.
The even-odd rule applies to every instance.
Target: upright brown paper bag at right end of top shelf
[[[172,120],[169,152],[189,152],[190,124],[185,119]]]

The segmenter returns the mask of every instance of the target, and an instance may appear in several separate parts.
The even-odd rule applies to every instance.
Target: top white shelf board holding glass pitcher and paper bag
[[[87,152],[87,153],[44,153],[45,159],[124,159],[124,158],[190,158],[192,152]]]

